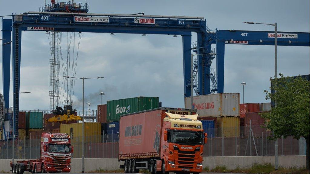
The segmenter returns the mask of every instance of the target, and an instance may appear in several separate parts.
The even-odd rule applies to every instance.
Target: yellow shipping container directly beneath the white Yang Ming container
[[[222,137],[240,136],[240,118],[239,117],[217,117],[216,124]]]

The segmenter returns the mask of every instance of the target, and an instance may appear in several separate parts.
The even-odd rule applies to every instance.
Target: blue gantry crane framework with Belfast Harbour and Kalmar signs
[[[274,38],[270,36],[273,32],[210,30],[203,17],[94,14],[86,13],[87,11],[87,3],[57,2],[55,5],[54,2],[41,7],[40,11],[12,15],[12,19],[2,18],[2,38],[6,39],[2,40],[3,94],[5,103],[9,103],[10,41],[12,41],[13,120],[16,134],[18,134],[21,31],[180,35],[183,43],[185,97],[191,95],[191,78],[197,79],[193,83],[197,95],[224,92],[225,44],[274,45]],[[197,33],[197,41],[193,44],[192,32]],[[309,46],[309,33],[278,32],[278,34],[283,34],[283,37],[278,38],[280,46]],[[216,44],[216,50],[211,49],[211,44]],[[192,51],[203,54],[197,56],[193,65],[191,65]],[[215,55],[216,73],[211,68]]]

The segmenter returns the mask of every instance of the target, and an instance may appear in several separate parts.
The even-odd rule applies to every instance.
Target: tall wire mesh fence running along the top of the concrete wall
[[[270,140],[272,132],[261,126],[207,128],[208,141],[204,144],[203,156],[265,156],[275,155],[275,141]],[[213,129],[213,130],[211,130]],[[87,133],[84,137],[85,158],[117,158],[119,131],[96,135]],[[91,136],[89,136],[91,135]],[[71,135],[74,147],[73,158],[82,158],[82,137]],[[152,140],[146,140],[152,141]],[[278,139],[279,155],[305,155],[306,141],[293,136]],[[40,157],[41,137],[19,138],[14,141],[15,159],[37,159]],[[12,141],[0,140],[0,158],[12,159]]]

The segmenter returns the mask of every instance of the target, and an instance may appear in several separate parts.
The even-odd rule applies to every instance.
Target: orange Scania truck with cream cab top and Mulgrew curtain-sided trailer
[[[125,173],[198,174],[207,134],[196,109],[160,107],[121,115],[118,160]]]

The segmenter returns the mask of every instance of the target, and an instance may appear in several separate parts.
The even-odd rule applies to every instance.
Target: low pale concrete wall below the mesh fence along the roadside
[[[15,159],[16,160],[16,159]],[[22,161],[23,159],[18,159]],[[254,163],[271,163],[274,164],[275,156],[229,156],[229,157],[203,157],[203,167],[209,169],[215,166],[226,166],[227,169],[235,169],[237,167],[246,168]],[[0,160],[0,171],[10,172],[11,159]],[[117,158],[86,158],[85,159],[85,172],[96,169],[104,170],[117,170],[120,163]],[[306,156],[279,156],[279,167],[306,167]],[[82,159],[71,159],[71,173],[82,172]]]

